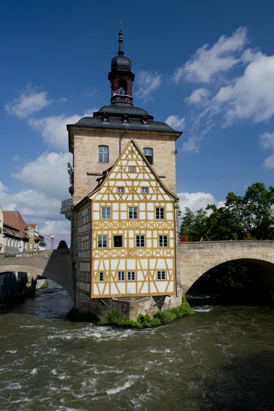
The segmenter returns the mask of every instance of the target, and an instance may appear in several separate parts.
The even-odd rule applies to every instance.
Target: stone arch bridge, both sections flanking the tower
[[[201,275],[233,260],[244,262],[274,290],[274,241],[181,242],[178,251],[177,282],[184,293]],[[75,301],[76,276],[69,249],[0,253],[0,274],[8,271],[52,279]]]

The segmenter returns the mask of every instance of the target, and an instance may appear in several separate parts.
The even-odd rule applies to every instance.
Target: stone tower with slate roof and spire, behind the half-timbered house
[[[70,166],[73,207],[97,186],[131,140],[140,147],[164,186],[176,192],[175,141],[182,133],[154,121],[153,116],[134,106],[134,77],[132,62],[124,55],[120,30],[118,55],[112,58],[108,73],[110,105],[104,105],[92,117],[67,125],[69,151],[73,154],[73,171]],[[71,245],[73,261],[77,263],[76,215],[72,218]]]

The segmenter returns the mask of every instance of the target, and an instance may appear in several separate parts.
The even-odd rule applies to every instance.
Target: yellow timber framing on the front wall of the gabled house
[[[127,186],[127,181],[125,181],[124,192],[118,193],[118,187],[121,184],[113,185],[113,188],[116,188],[117,192],[115,198],[113,197],[113,192],[110,186],[107,186],[106,183],[109,179],[111,179],[112,175],[116,173],[115,169],[119,161],[123,158],[125,153],[128,151],[128,147],[132,145],[135,147],[138,156],[142,159],[142,166],[138,166],[140,173],[145,173],[145,167],[149,169],[149,172],[152,175],[152,178],[141,180],[139,179],[138,186],[134,186],[133,184]],[[135,151],[134,150],[134,151]],[[125,172],[127,170],[127,173]],[[130,180],[128,177],[129,172],[129,164],[124,164],[123,166],[123,175],[126,175],[125,180]],[[139,173],[139,175],[140,175]],[[138,171],[136,171],[138,174]],[[121,171],[122,176],[122,171]],[[121,181],[123,178],[119,178]],[[158,182],[159,186],[162,187],[164,192],[166,192],[166,196],[160,193],[159,186],[155,184],[153,186],[152,182]],[[137,181],[134,180],[134,181]],[[140,183],[144,183],[145,186],[141,185]],[[97,194],[99,194],[100,190],[107,186],[106,190],[103,191],[103,195],[108,195],[108,199],[102,199],[103,195],[99,199],[96,199]],[[142,193],[142,187],[146,187],[149,189],[148,193]],[[125,192],[125,188],[129,189],[128,192]],[[137,193],[137,189],[140,188],[140,193]],[[135,190],[135,192],[134,192]],[[110,193],[112,192],[112,197],[114,199],[110,199]],[[134,199],[134,195],[139,195],[140,199]],[[156,197],[161,197],[161,199],[153,199]],[[90,197],[95,197],[94,199]],[[128,199],[127,199],[128,197]],[[168,198],[168,200],[166,199]],[[114,166],[111,167],[108,175],[105,176],[103,181],[99,186],[97,186],[90,194],[85,197],[80,203],[75,206],[77,210],[82,210],[85,208],[86,203],[91,201],[91,223],[92,223],[92,236],[90,241],[90,263],[91,263],[91,289],[90,289],[90,297],[91,298],[108,298],[108,297],[125,297],[125,296],[149,296],[149,295],[173,295],[175,294],[175,270],[176,270],[176,260],[175,260],[175,252],[176,252],[176,234],[175,234],[175,202],[177,202],[177,197],[167,189],[158,175],[153,170],[153,167],[145,156],[142,154],[142,151],[139,149],[138,145],[134,140],[130,140],[116,160]],[[99,215],[97,219],[94,220],[93,216],[94,213],[97,213],[98,207],[95,210],[95,204],[99,203]],[[145,219],[140,219],[140,204],[142,203],[142,212],[145,212]],[[151,208],[148,210],[148,204],[154,204],[153,210]],[[169,210],[167,210],[169,204]],[[171,209],[172,205],[172,209]],[[102,207],[110,207],[111,208],[111,219],[102,219],[101,216],[101,209]],[[138,219],[129,219],[128,210],[129,207],[138,207]],[[155,208],[164,208],[164,219],[155,219]],[[114,210],[115,208],[115,210]],[[123,208],[123,210],[122,210]],[[172,219],[167,219],[167,211],[169,214],[172,213]],[[114,212],[119,214],[119,219],[114,220],[113,215]],[[126,212],[126,215],[125,215]],[[153,212],[153,219],[148,220],[147,216],[148,213]],[[121,218],[122,214],[124,213],[124,217]],[[99,218],[98,218],[99,217]],[[154,234],[153,237],[153,232]],[[173,233],[171,235],[171,232]],[[132,234],[133,233],[133,234]],[[151,234],[149,234],[151,233]],[[149,235],[148,235],[149,234]],[[107,236],[107,248],[97,248],[97,237],[98,236]],[[113,247],[113,236],[121,235],[123,236],[123,247]],[[145,236],[145,247],[136,247],[136,236],[143,235]],[[156,238],[155,238],[156,236]],[[167,236],[168,237],[168,247],[159,247],[159,236]],[[133,240],[133,244],[132,244]],[[155,245],[155,241],[156,244]],[[171,246],[172,241],[172,246]],[[93,251],[92,251],[93,250]],[[127,266],[127,260],[135,260],[135,268],[129,268]],[[158,261],[164,261],[164,266],[161,268],[157,268]],[[169,260],[169,264],[168,264]],[[144,261],[147,261],[147,267],[144,266]],[[171,264],[172,261],[172,264]],[[124,262],[124,265],[122,264]],[[153,262],[153,264],[151,264]],[[95,269],[96,263],[96,269]],[[150,266],[151,265],[151,266]],[[113,267],[113,268],[112,268]],[[115,267],[115,268],[114,268]],[[123,267],[123,268],[121,268]],[[125,272],[125,282],[118,281],[118,272],[123,271]],[[134,281],[127,281],[127,272],[135,271],[135,280]],[[163,280],[157,279],[157,271],[166,271],[166,287],[163,290],[159,290],[159,284],[157,282],[164,282]],[[99,282],[99,273],[104,273],[104,282]],[[142,279],[138,279],[138,272],[142,273]],[[135,283],[136,292],[128,293],[128,283],[132,284]],[[97,284],[103,284],[101,291],[99,290],[99,286]],[[121,292],[121,284],[125,284],[124,291]],[[147,292],[144,292],[143,288],[145,288],[145,284],[147,284]],[[171,284],[172,290],[171,290]],[[94,287],[97,288],[98,293],[94,292]],[[113,287],[115,288],[115,292],[112,292]],[[107,290],[108,289],[108,290]],[[110,291],[110,292],[109,292]]]

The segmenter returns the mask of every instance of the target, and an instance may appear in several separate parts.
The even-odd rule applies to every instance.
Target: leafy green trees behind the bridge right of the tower
[[[267,190],[263,183],[247,187],[244,196],[229,192],[225,206],[217,208],[209,204],[206,210],[197,212],[186,208],[180,236],[186,234],[190,241],[244,240],[247,236],[256,240],[273,238],[274,188]]]

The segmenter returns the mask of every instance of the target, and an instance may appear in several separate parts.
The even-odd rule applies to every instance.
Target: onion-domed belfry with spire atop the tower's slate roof
[[[134,73],[132,73],[132,60],[125,57],[123,51],[123,32],[119,31],[119,51],[118,55],[112,58],[111,71],[108,73],[108,79],[111,83],[111,103],[130,103],[132,104],[132,82]]]

